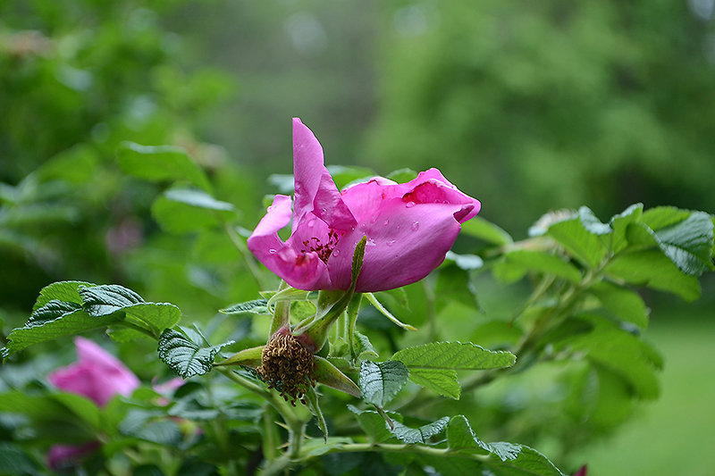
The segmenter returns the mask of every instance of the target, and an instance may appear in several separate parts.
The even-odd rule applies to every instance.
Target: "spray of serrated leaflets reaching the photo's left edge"
[[[110,336],[117,340],[158,338],[180,319],[175,305],[147,303],[129,288],[59,281],[40,291],[28,322],[8,336],[3,357],[39,342],[106,326],[115,326]]]

